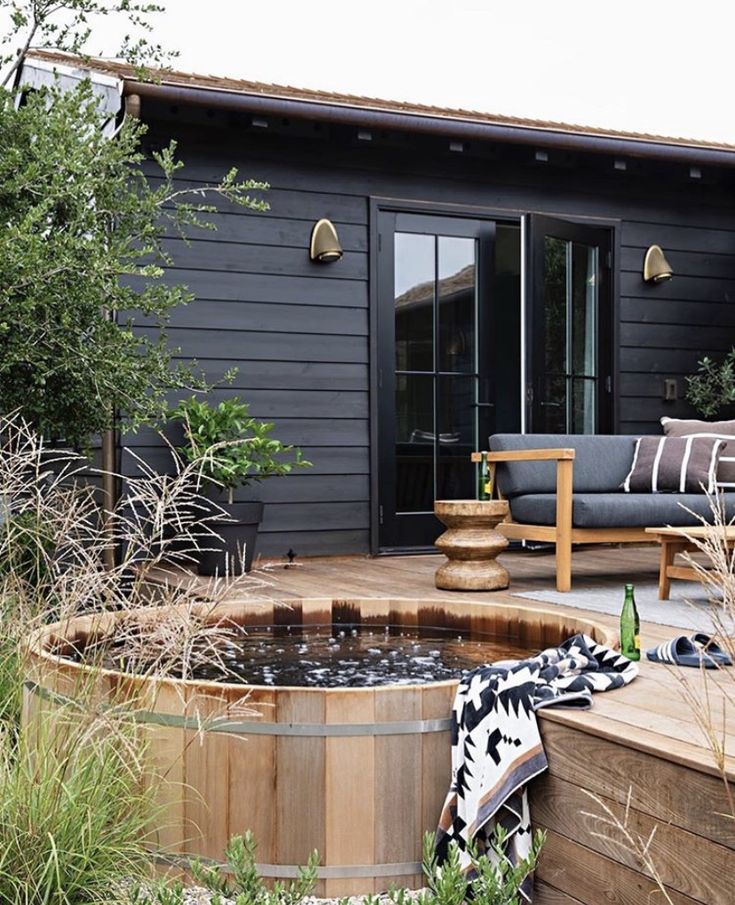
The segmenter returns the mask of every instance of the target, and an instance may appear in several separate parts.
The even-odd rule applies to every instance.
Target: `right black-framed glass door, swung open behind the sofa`
[[[529,428],[610,431],[609,233],[536,215],[529,220]]]

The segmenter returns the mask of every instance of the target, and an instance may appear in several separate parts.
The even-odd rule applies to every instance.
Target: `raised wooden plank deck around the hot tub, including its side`
[[[262,574],[271,582],[266,593],[272,597],[470,597],[518,603],[507,591],[436,590],[433,572],[440,561],[438,556],[314,558],[288,569],[270,562]],[[553,555],[507,553],[502,561],[510,570],[513,593],[554,587]],[[657,575],[658,551],[652,547],[595,547],[574,554],[574,587],[609,585],[621,602],[625,582],[653,581]],[[527,604],[558,608],[532,600]],[[588,615],[613,627],[617,622],[599,613]],[[644,624],[642,645],[650,647],[681,631]],[[669,670],[644,660],[635,682],[596,695],[591,711],[540,712],[549,770],[534,782],[531,805],[534,821],[547,829],[548,839],[537,874],[536,905],[664,901],[648,868],[626,850],[622,834],[598,819],[604,804],[623,820],[629,794],[628,827],[644,838],[655,828],[650,854],[671,902],[735,901],[735,822],[727,816],[726,784],[697,715],[682,695],[682,681],[695,692],[703,687],[697,670]],[[728,689],[731,701],[735,692],[733,679],[723,674],[707,687],[719,737],[726,750],[735,752],[735,718],[727,701]],[[735,757],[725,760],[728,778],[735,782]]]

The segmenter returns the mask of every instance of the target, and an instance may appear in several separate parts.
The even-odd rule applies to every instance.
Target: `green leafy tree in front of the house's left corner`
[[[125,0],[10,6],[21,54],[29,27],[78,51],[93,13],[137,22],[157,9]],[[126,40],[139,60],[144,45]],[[268,186],[231,170],[217,185],[182,192],[175,143],[153,154],[160,179],[149,181],[145,125],[126,118],[104,137],[108,114],[89,81],[28,92],[20,105],[18,96],[0,89],[0,413],[20,410],[47,440],[85,446],[116,416],[129,429],[155,423],[168,391],[204,386],[192,367],[174,365],[168,344],[170,313],[192,295],[162,279],[172,263],[163,239],[213,228],[206,215],[218,198],[266,210]],[[151,329],[136,329],[141,317]]]

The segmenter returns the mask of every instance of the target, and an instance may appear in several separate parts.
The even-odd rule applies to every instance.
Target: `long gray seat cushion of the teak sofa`
[[[727,519],[735,516],[735,493],[725,499]],[[572,525],[575,528],[652,528],[663,525],[698,525],[682,507],[712,519],[709,499],[703,493],[575,493]],[[556,494],[534,493],[515,497],[510,504],[513,520],[526,525],[556,524]]]

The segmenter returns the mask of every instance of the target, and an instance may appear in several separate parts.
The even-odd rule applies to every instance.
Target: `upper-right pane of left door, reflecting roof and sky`
[[[439,236],[439,370],[475,371],[475,240]]]

